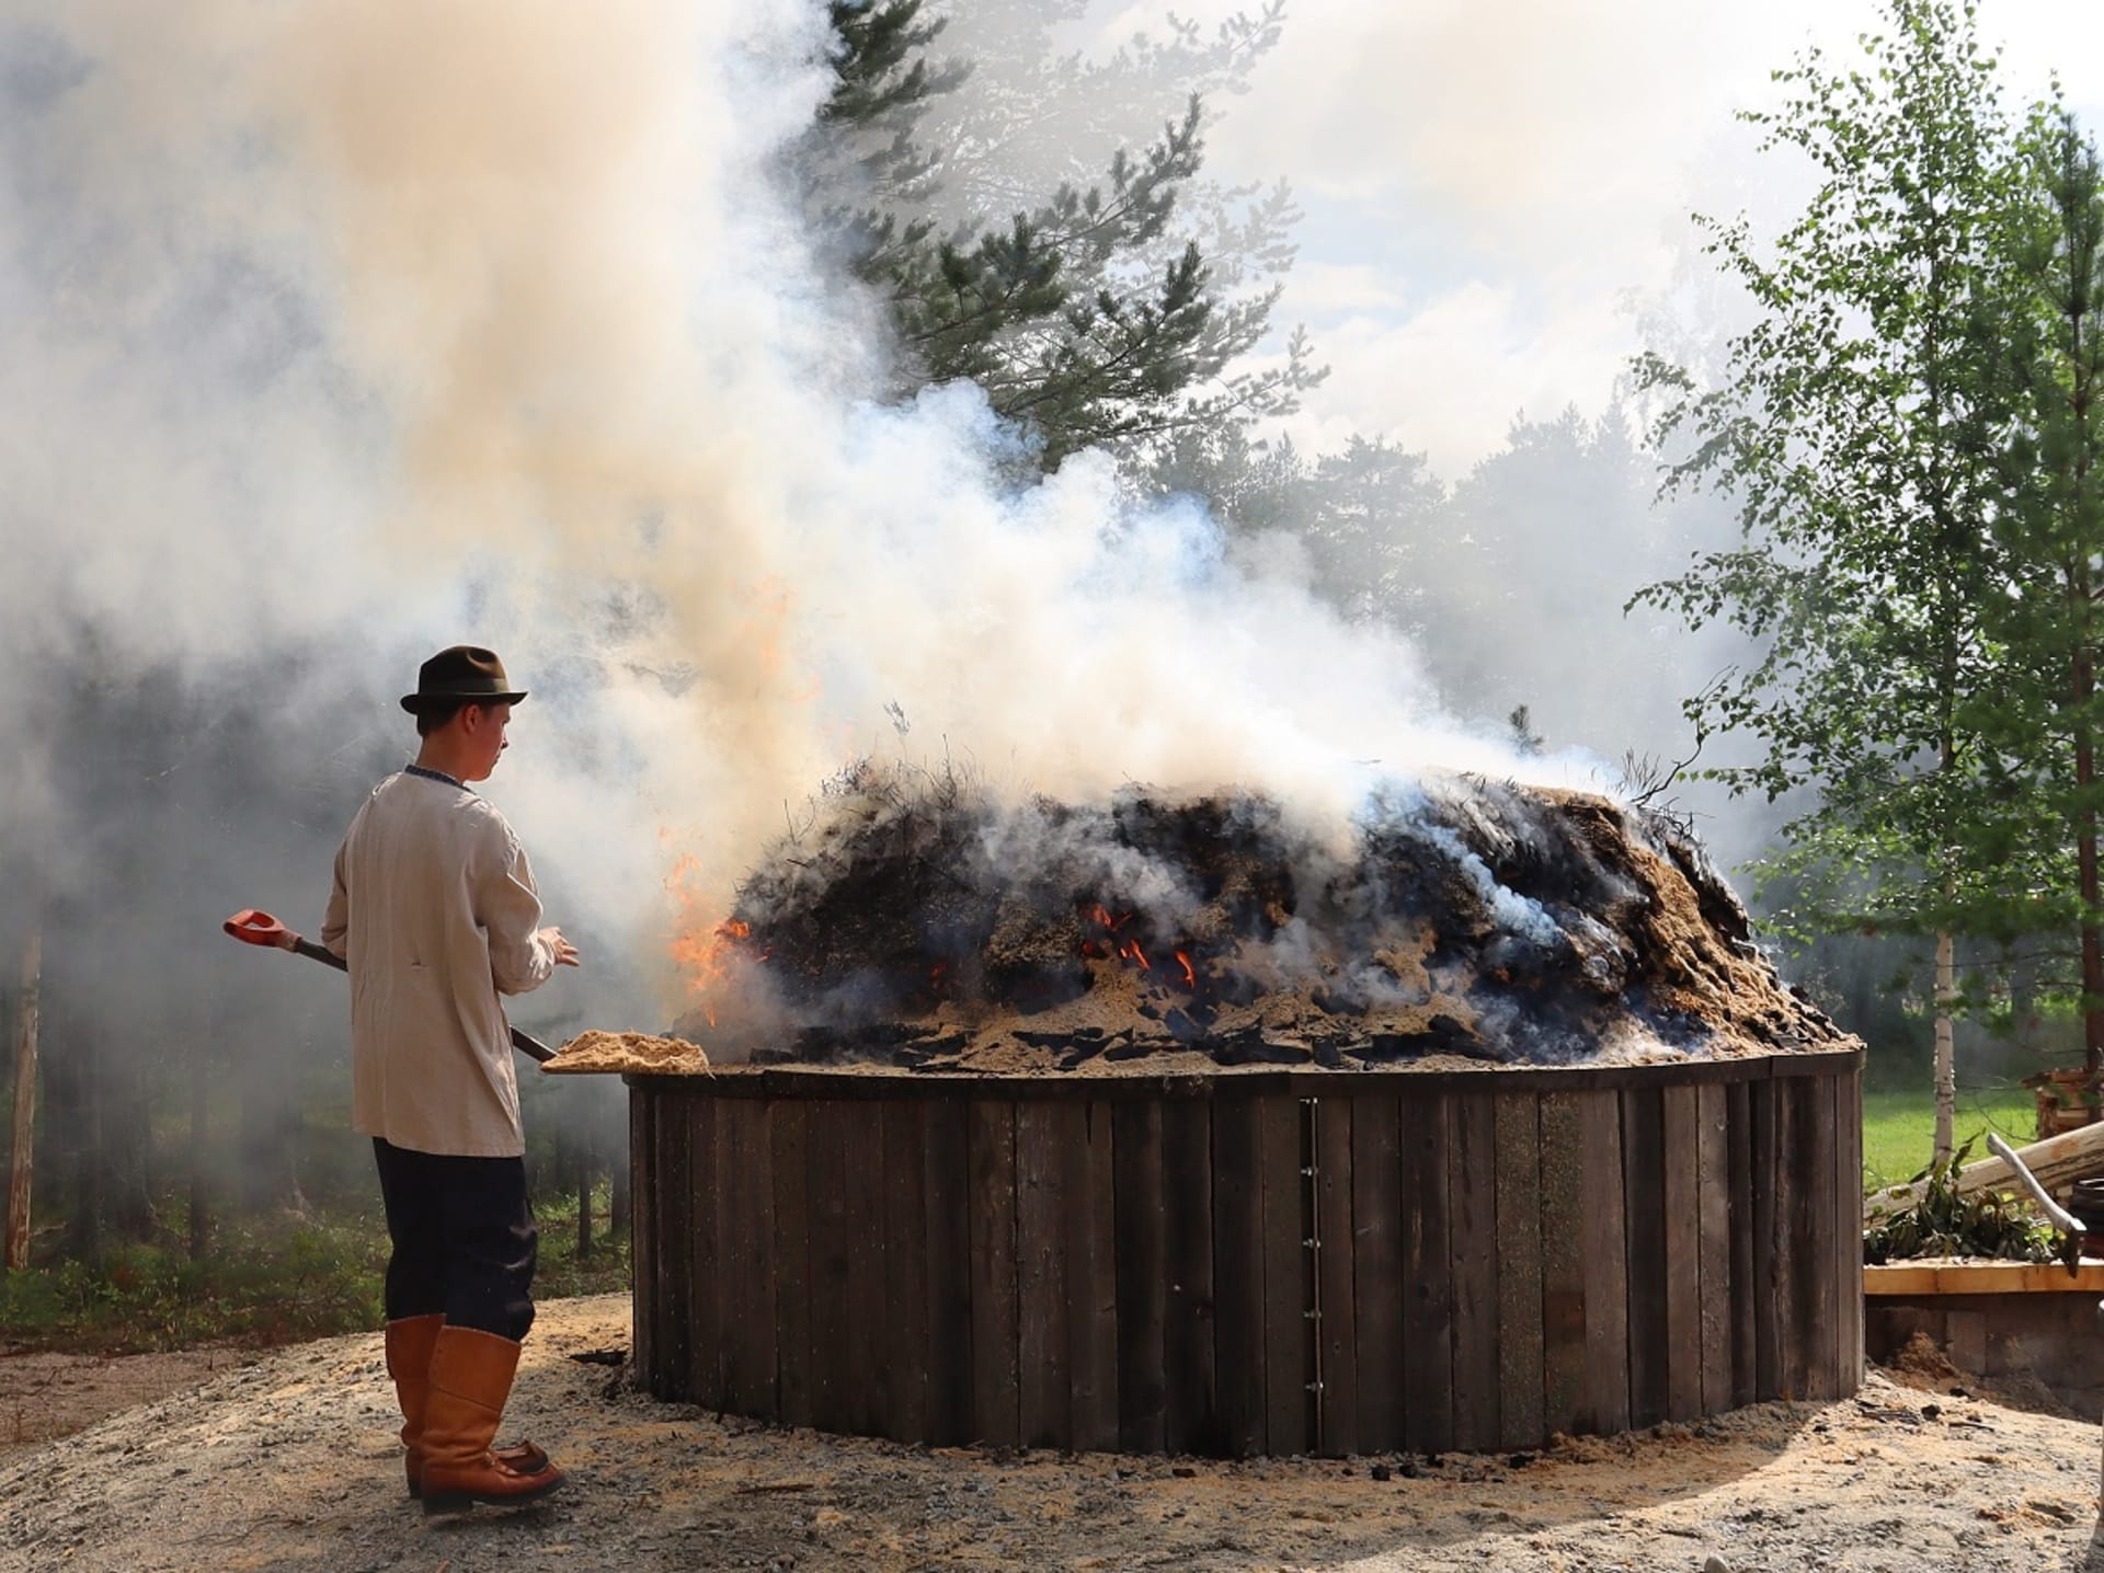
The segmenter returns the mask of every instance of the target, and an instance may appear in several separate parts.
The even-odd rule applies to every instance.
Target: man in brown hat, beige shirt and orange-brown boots
[[[440,650],[402,709],[417,763],[366,799],[337,852],[322,944],[351,974],[351,1125],[372,1138],[387,1207],[387,1373],[408,1489],[423,1510],[545,1497],[532,1443],[492,1449],[532,1325],[537,1230],[509,1024],[576,951],[541,927],[505,816],[469,791],[509,747],[526,694],[488,650]]]

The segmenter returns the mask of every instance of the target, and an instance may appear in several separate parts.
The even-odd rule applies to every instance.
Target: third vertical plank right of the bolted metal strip
[[[1401,1100],[1403,1167],[1403,1445],[1454,1445],[1454,1262],[1445,1094]],[[1536,1398],[1538,1403],[1538,1398]]]

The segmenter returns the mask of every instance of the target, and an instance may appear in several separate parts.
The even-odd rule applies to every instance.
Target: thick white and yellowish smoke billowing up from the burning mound
[[[652,955],[675,862],[726,911],[787,801],[901,747],[886,704],[1010,793],[1338,826],[1427,765],[1584,772],[1445,719],[1290,551],[1094,454],[1018,490],[970,387],[875,404],[871,313],[768,183],[825,46],[814,4],[15,6],[8,654],[86,629],[208,688],[326,648],[280,702],[370,753],[417,658],[492,644],[532,698],[488,793]],[[6,833],[63,833],[15,698]]]

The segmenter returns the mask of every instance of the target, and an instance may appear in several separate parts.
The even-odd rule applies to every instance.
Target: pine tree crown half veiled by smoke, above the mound
[[[1130,454],[1182,427],[1286,412],[1319,379],[1300,334],[1279,364],[1233,370],[1277,301],[1275,284],[1246,282],[1290,261],[1281,229],[1294,212],[1283,189],[1239,219],[1216,200],[1227,275],[1176,229],[1203,156],[1197,93],[1138,154],[1113,143],[1100,179],[1063,172],[1025,200],[1002,179],[1002,154],[1050,139],[1041,126],[1018,135],[1012,90],[959,107],[970,63],[930,59],[947,19],[922,0],[835,0],[831,15],[835,90],[795,164],[821,225],[890,315],[894,395],[970,379],[1052,469],[1086,446]],[[1012,53],[1041,46],[1046,25],[974,36]],[[1149,53],[1149,69],[1164,59]],[[930,132],[940,114],[953,120]],[[1081,156],[1060,162],[1071,170]]]

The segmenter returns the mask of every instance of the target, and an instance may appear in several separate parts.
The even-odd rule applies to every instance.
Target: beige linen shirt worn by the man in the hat
[[[322,944],[351,972],[351,1125],[417,1152],[526,1150],[499,995],[555,969],[541,896],[505,816],[398,772],[337,850]]]

